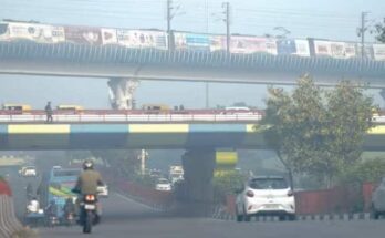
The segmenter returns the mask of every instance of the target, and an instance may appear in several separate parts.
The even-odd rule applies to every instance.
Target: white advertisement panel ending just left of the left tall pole
[[[154,48],[167,50],[166,32],[117,29],[116,34],[118,44],[126,48]]]

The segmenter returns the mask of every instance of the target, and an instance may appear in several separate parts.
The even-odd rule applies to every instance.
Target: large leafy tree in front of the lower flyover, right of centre
[[[360,158],[372,103],[357,85],[342,82],[326,91],[309,75],[291,94],[270,87],[262,120],[266,141],[290,175],[309,174],[331,186],[344,166]]]

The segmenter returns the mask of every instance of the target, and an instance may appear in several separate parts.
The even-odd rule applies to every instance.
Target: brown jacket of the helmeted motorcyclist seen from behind
[[[102,176],[95,170],[84,170],[77,178],[75,189],[81,194],[97,194],[97,186],[103,185]]]

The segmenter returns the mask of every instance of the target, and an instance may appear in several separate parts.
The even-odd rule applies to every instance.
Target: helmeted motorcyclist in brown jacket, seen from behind
[[[80,194],[80,199],[76,200],[76,210],[80,211],[80,223],[83,221],[83,210],[80,207],[80,200],[83,199],[84,195],[97,195],[97,186],[104,186],[102,176],[98,172],[94,170],[94,163],[91,159],[86,159],[83,163],[83,172],[80,174],[75,187],[72,189],[73,193]],[[97,205],[96,223],[100,221],[101,207]]]

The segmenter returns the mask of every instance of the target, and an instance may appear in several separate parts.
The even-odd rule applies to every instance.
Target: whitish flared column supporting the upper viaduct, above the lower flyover
[[[134,93],[138,86],[137,80],[113,77],[108,80],[110,101],[115,110],[132,110],[135,107]]]

